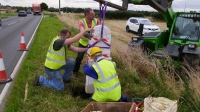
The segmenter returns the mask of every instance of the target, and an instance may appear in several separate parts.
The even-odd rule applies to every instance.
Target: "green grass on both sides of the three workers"
[[[4,112],[80,112],[89,102],[81,96],[72,97],[72,91],[85,87],[85,75],[81,69],[80,75],[72,79],[72,83],[65,84],[65,91],[57,91],[43,86],[33,86],[35,75],[46,76],[44,72],[44,61],[47,49],[52,39],[58,35],[62,28],[69,28],[72,36],[78,33],[77,29],[65,26],[56,17],[43,18],[41,25],[29,48],[21,69],[14,80],[14,86],[6,102]],[[74,44],[75,46],[77,43]],[[69,57],[76,57],[76,53],[69,52]],[[138,73],[130,72],[122,61],[112,56],[117,63],[117,72],[122,85],[122,93],[129,97],[145,98],[167,97],[172,100],[179,99],[179,112],[197,111],[200,103],[195,102],[192,91],[185,85],[181,96],[174,93],[173,89],[165,83],[165,75],[140,76]],[[25,97],[25,85],[28,83],[27,99]],[[195,104],[195,105],[194,105]]]

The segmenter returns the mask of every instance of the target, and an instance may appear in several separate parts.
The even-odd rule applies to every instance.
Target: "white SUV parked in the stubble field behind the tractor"
[[[126,22],[126,31],[134,31],[138,33],[140,24],[144,24],[143,33],[160,31],[160,28],[152,23],[148,18],[130,17]]]

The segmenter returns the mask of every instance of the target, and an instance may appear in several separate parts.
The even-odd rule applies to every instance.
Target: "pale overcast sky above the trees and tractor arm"
[[[122,4],[122,0],[106,0],[118,5]],[[0,0],[2,5],[10,5],[10,6],[23,6],[28,7],[33,3],[46,3],[49,7],[58,8],[59,0]],[[77,7],[77,8],[86,8],[91,7],[93,9],[99,8],[99,3],[94,0],[60,0],[60,7]],[[172,7],[174,11],[200,11],[200,0],[174,0]],[[108,10],[112,10],[113,8],[108,7]],[[144,5],[133,5],[129,4],[128,10],[147,10],[147,11],[155,11],[150,6]]]

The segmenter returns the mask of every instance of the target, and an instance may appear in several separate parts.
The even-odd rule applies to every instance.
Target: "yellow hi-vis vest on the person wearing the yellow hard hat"
[[[114,64],[103,59],[92,67],[98,74],[98,79],[94,80],[92,99],[98,102],[118,101],[121,97],[121,85]]]

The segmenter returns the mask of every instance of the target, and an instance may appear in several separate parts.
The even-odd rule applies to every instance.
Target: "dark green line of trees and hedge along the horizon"
[[[49,12],[64,12],[64,13],[83,13],[84,8],[74,8],[74,7],[62,7],[62,8],[54,8],[48,7],[46,3],[41,3],[42,10]],[[32,7],[14,7],[19,10],[27,10]],[[94,9],[96,17],[99,18],[100,10]],[[152,17],[153,19],[164,21],[164,18],[161,13],[155,11],[119,11],[119,10],[107,10],[106,11],[106,19],[118,19],[118,20],[127,20],[130,17]]]

